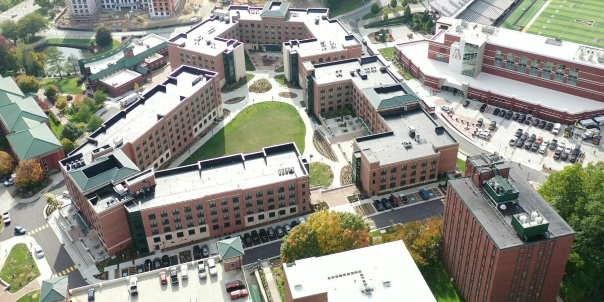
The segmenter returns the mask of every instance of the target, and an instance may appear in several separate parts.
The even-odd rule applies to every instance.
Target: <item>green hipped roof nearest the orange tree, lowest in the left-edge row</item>
[[[27,120],[27,123],[37,125],[6,137],[19,160],[36,158],[63,148],[46,124],[31,120]]]

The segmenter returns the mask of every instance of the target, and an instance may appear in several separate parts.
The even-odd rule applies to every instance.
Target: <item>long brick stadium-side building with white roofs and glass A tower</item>
[[[395,47],[426,86],[560,123],[604,114],[604,50],[452,18],[437,28]]]

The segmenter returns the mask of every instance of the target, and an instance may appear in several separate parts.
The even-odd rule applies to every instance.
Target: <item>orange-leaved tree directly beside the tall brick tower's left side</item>
[[[394,225],[389,233],[382,235],[382,242],[403,240],[417,265],[428,266],[439,259],[442,225],[440,217]]]

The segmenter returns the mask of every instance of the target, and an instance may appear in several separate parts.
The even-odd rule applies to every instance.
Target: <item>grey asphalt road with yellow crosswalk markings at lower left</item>
[[[60,194],[64,189],[64,183],[60,182],[51,188],[51,192]],[[44,251],[44,257],[47,259],[50,267],[53,269],[53,274],[62,272],[65,269],[72,268],[74,262],[69,257],[68,252],[61,245],[53,229],[48,226],[43,216],[43,210],[46,206],[46,196],[42,196],[37,201],[16,204],[11,210],[10,219],[11,223],[7,228],[0,233],[0,240],[5,240],[14,236],[14,226],[22,226],[27,230],[30,236],[36,239],[36,242],[42,247]],[[39,231],[36,231],[39,230]],[[30,233],[36,231],[35,233]],[[74,269],[69,272],[69,286],[71,288],[77,288],[80,286],[88,285],[88,283],[80,274],[80,271]]]

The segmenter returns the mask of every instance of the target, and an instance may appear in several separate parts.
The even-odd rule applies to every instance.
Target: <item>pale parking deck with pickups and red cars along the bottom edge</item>
[[[216,259],[218,260],[218,259]],[[225,283],[235,280],[241,280],[246,283],[242,271],[225,272],[222,263],[216,264],[217,274],[207,275],[206,278],[199,278],[198,270],[194,263],[187,263],[188,278],[183,279],[182,273],[178,271],[178,284],[170,284],[170,273],[167,268],[159,271],[145,272],[138,274],[137,290],[138,295],[132,296],[129,293],[129,278],[119,278],[116,280],[97,283],[91,286],[72,289],[70,301],[89,301],[88,289],[95,289],[95,300],[102,301],[231,301],[229,294],[225,291]],[[178,266],[180,270],[180,265]],[[159,272],[165,271],[167,274],[167,284],[161,284]],[[132,277],[130,277],[132,278]],[[194,299],[194,300],[191,300]],[[237,301],[249,301],[248,297],[240,298]]]

